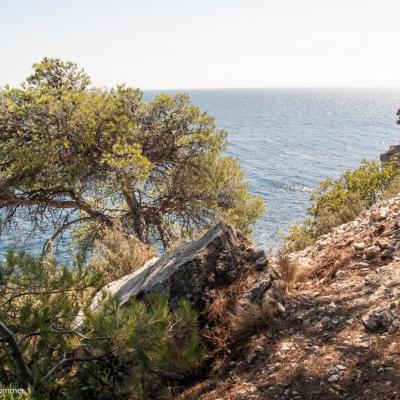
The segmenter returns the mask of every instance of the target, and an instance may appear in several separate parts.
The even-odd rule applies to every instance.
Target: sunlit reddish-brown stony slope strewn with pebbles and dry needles
[[[180,399],[400,399],[400,196],[302,252],[286,312]]]

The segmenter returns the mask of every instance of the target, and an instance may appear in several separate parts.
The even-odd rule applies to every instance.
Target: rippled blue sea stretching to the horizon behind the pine
[[[150,100],[160,91],[144,92]],[[192,102],[225,129],[227,154],[236,157],[267,212],[253,240],[277,249],[288,228],[305,218],[310,194],[326,178],[337,178],[363,159],[378,159],[400,143],[396,111],[400,88],[277,88],[167,90],[188,93]],[[39,253],[48,232],[30,233],[23,223],[0,238],[7,247]],[[59,249],[66,256],[68,236]]]

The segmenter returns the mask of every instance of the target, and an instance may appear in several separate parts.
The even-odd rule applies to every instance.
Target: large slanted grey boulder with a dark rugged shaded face
[[[185,298],[201,313],[220,290],[235,283],[241,288],[237,309],[264,303],[282,312],[279,282],[280,276],[268,267],[264,251],[256,250],[236,229],[220,223],[199,240],[150,260],[132,274],[108,284],[94,297],[91,309],[98,309],[105,293],[127,304],[133,297],[141,299],[156,291],[168,293],[172,310]]]

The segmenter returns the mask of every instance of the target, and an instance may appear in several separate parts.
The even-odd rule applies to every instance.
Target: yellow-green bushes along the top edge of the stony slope
[[[399,176],[397,160],[386,164],[363,161],[359,168],[346,171],[339,179],[324,180],[310,197],[309,217],[290,229],[286,250],[301,250],[332,228],[353,220],[384,197],[385,191],[395,191]]]

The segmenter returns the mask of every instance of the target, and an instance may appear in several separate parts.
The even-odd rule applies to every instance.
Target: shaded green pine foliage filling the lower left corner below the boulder
[[[29,387],[26,398],[36,400],[147,399],[165,377],[199,365],[205,347],[188,302],[171,312],[162,294],[124,307],[106,297],[94,313],[84,306],[99,279],[90,267],[7,254],[0,267],[3,387]]]

